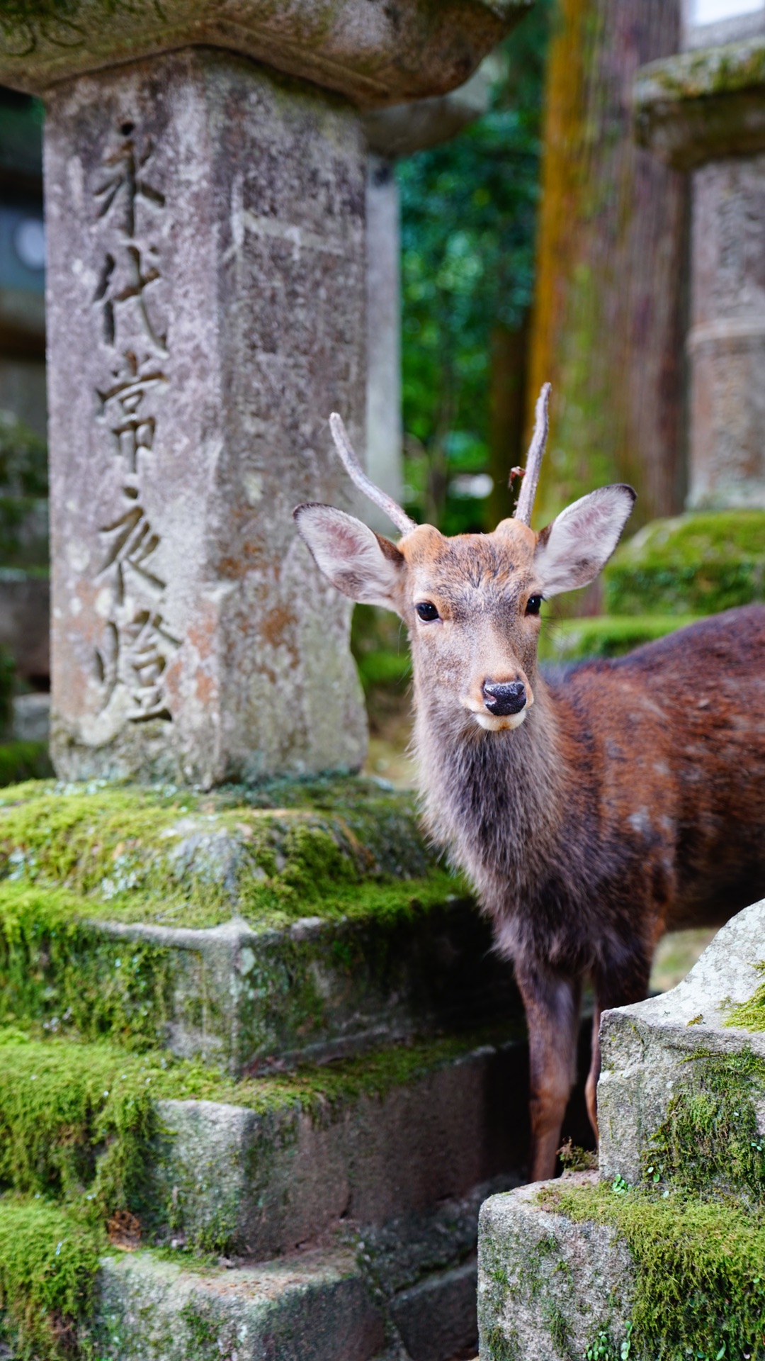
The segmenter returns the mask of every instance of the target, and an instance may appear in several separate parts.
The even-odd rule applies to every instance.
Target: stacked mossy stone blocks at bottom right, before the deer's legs
[[[603,1014],[599,1173],[486,1200],[481,1361],[753,1356],[765,1317],[765,901]]]

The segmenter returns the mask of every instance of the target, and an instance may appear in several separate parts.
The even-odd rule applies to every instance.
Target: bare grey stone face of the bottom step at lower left
[[[114,1361],[370,1361],[385,1345],[382,1313],[342,1248],[233,1270],[108,1258],[98,1296],[94,1341]]]

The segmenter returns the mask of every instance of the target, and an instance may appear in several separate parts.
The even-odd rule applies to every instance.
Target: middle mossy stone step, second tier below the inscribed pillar
[[[147,1241],[265,1259],[342,1219],[382,1226],[519,1181],[525,1068],[519,1038],[461,1037],[234,1083],[0,1032],[0,1180],[127,1209]]]

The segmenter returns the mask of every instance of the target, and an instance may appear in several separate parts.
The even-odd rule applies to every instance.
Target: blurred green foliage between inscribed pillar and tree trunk
[[[486,468],[491,332],[531,305],[553,8],[536,0],[500,48],[489,113],[397,166],[407,509],[448,534],[485,528],[448,485]]]

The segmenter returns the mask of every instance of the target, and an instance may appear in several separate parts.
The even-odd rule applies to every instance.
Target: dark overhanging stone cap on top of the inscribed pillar
[[[65,16],[34,8],[0,29],[0,82],[53,82],[207,44],[255,57],[368,106],[442,94],[523,18],[531,0],[80,0]]]

